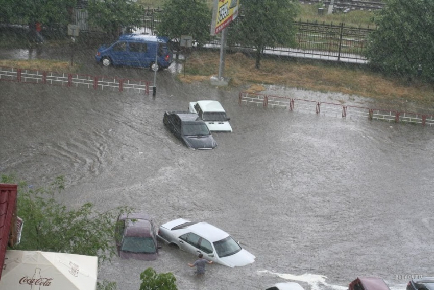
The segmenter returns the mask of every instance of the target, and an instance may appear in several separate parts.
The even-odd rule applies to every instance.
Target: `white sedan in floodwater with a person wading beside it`
[[[228,233],[204,221],[175,219],[162,225],[157,236],[167,244],[194,255],[203,254],[205,259],[225,266],[244,266],[255,261],[255,256]]]

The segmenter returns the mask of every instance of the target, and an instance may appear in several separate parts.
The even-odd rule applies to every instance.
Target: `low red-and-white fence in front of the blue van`
[[[0,80],[35,84],[86,87],[94,90],[136,92],[149,95],[152,82],[107,76],[91,76],[74,73],[47,72],[0,66]]]

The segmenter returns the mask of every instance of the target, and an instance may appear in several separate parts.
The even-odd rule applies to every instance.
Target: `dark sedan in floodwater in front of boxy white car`
[[[189,111],[167,111],[164,113],[163,123],[188,148],[204,150],[217,147],[217,142],[198,114]]]

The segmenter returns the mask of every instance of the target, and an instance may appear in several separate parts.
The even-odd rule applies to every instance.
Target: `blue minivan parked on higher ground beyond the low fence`
[[[168,37],[144,34],[123,34],[114,43],[101,46],[95,55],[97,62],[104,66],[140,66],[153,71],[168,68],[172,58]]]

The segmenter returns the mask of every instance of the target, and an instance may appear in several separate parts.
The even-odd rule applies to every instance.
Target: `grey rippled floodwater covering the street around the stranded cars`
[[[106,75],[153,76],[109,69]],[[120,290],[137,289],[147,267],[173,272],[180,290],[285,281],[341,290],[360,276],[403,290],[408,280],[397,275],[434,275],[434,128],[240,106],[238,90],[182,84],[168,71],[157,76],[155,98],[6,81],[0,92],[0,174],[16,173],[34,186],[63,174],[59,198],[71,207],[132,206],[157,226],[205,220],[256,256],[234,269],[207,265],[203,279],[187,266],[196,257],[173,248],[163,246],[156,261],[115,257],[99,278]],[[222,103],[234,131],[215,133],[214,150],[192,151],[162,117],[203,99]]]

